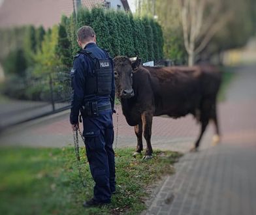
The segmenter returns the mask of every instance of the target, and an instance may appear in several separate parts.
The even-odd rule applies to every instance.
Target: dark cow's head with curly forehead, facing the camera
[[[114,74],[116,79],[116,96],[120,98],[131,98],[135,95],[133,91],[133,73],[138,70],[141,59],[138,57],[128,58],[118,56],[113,59]]]

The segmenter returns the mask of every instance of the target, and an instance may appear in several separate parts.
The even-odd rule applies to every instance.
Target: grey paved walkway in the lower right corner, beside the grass
[[[256,214],[255,155],[224,144],[185,154],[145,214]]]

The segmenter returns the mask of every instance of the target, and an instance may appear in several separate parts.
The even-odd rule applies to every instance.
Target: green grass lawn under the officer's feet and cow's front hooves
[[[0,214],[138,214],[145,209],[147,186],[174,173],[178,152],[155,151],[152,160],[131,156],[133,149],[116,150],[117,194],[103,208],[82,207],[93,195],[89,165],[82,156],[82,175],[72,147],[62,149],[6,147],[0,149]]]

